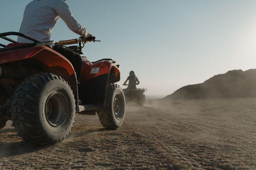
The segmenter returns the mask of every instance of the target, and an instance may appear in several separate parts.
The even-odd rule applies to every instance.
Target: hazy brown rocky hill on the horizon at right
[[[256,97],[256,69],[232,70],[200,84],[181,87],[164,99],[210,99]]]

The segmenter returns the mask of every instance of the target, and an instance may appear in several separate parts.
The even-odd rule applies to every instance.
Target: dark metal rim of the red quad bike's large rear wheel
[[[45,104],[45,117],[47,122],[53,126],[61,126],[68,115],[68,102],[61,93],[51,94]]]

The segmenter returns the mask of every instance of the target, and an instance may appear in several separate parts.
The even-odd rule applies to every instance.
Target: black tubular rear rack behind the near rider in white
[[[14,50],[14,49],[21,49],[21,48],[36,47],[36,46],[41,46],[41,45],[50,45],[50,44],[55,43],[54,41],[41,42],[40,40],[34,39],[32,37],[29,37],[25,34],[18,33],[18,32],[0,33],[0,38],[2,38],[4,40],[7,40],[9,42],[12,42],[12,43],[19,43],[17,41],[14,41],[12,39],[7,38],[6,36],[20,36],[20,37],[23,37],[23,38],[28,39],[30,41],[33,41],[34,43],[28,43],[28,44],[11,46],[11,47],[6,47],[6,45],[0,43],[0,46],[4,47],[4,48],[0,48],[0,52]]]

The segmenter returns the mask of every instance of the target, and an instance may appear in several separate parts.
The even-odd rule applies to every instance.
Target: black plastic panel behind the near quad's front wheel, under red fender
[[[104,112],[106,89],[109,73],[99,75],[83,84],[78,85],[78,96],[83,105],[99,105],[97,114]]]

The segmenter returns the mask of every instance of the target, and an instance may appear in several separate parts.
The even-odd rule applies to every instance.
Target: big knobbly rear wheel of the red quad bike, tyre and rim
[[[73,92],[64,79],[51,73],[38,73],[16,88],[11,118],[24,141],[51,145],[69,134],[75,107]]]

